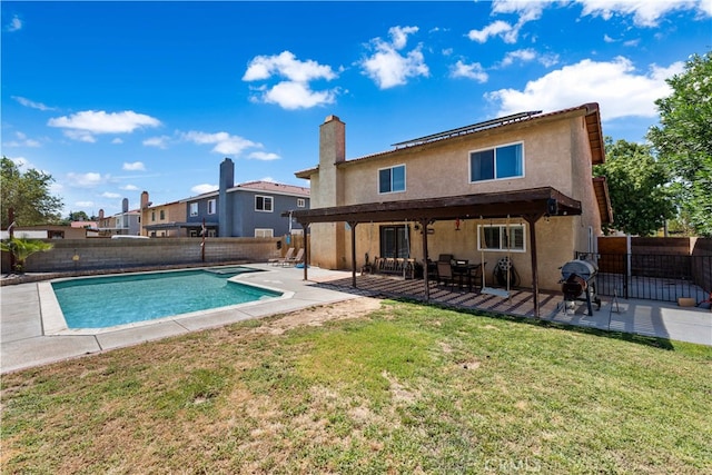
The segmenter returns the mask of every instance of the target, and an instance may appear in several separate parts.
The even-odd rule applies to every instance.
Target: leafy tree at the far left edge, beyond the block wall
[[[60,220],[61,198],[50,195],[55,181],[51,175],[29,169],[21,172],[18,166],[2,157],[0,180],[0,222],[10,226],[8,210],[14,208],[16,221],[20,226],[53,224]]]

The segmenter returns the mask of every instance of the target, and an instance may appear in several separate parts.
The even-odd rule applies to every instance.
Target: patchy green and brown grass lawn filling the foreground
[[[712,348],[357,299],[2,376],[1,473],[712,473]]]

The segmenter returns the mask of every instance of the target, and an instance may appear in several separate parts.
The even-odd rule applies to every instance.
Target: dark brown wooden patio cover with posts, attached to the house
[[[436,220],[522,217],[530,226],[532,291],[534,313],[538,317],[538,274],[535,224],[544,216],[581,215],[581,201],[570,198],[552,187],[516,191],[461,195],[442,198],[368,202],[329,208],[297,209],[281,216],[295,218],[305,229],[313,222],[348,222],[352,229],[352,281],[356,287],[356,226],[359,222],[417,221],[425,229]],[[427,232],[423,232],[423,256],[427,256]],[[309,261],[306,246],[305,263]],[[424,268],[426,263],[423,263]],[[427,273],[423,273],[425,298],[429,299]],[[307,266],[304,266],[307,280]]]

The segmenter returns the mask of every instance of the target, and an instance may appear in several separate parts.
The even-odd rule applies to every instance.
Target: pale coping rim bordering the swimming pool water
[[[230,265],[230,266],[205,266],[205,267],[194,267],[190,270],[202,270],[202,269],[210,269],[210,268],[218,268],[218,267],[236,267],[236,266],[235,265]],[[240,267],[251,268],[251,269],[255,269],[255,271],[258,271],[258,273],[268,271],[268,269],[260,269],[260,268],[255,267],[255,266],[250,267],[249,265],[240,265]],[[182,270],[179,270],[179,269],[149,270],[149,271],[130,273],[130,275],[165,274],[165,273],[175,273],[175,271],[182,271]],[[61,277],[61,278],[55,278],[55,279],[51,279],[51,280],[40,281],[40,283],[37,284],[37,289],[38,289],[38,296],[39,296],[42,334],[44,336],[102,335],[102,334],[120,331],[120,330],[125,330],[125,329],[140,328],[140,327],[146,327],[146,326],[150,326],[150,325],[158,325],[158,324],[164,324],[164,323],[169,323],[169,321],[175,321],[175,323],[180,324],[181,320],[185,320],[187,318],[210,316],[212,314],[217,314],[217,313],[221,313],[221,311],[239,310],[239,309],[248,308],[248,307],[251,307],[251,306],[255,306],[255,305],[264,305],[264,304],[270,303],[270,301],[274,303],[274,301],[290,299],[290,298],[293,298],[295,296],[295,293],[290,291],[290,290],[285,290],[285,289],[280,289],[280,288],[273,287],[273,286],[266,286],[266,285],[263,285],[263,284],[243,281],[244,276],[249,275],[249,274],[254,274],[254,273],[251,273],[251,271],[250,273],[240,273],[240,274],[237,274],[235,276],[228,277],[227,280],[239,283],[240,285],[245,285],[245,286],[248,286],[248,287],[255,287],[255,288],[259,288],[259,289],[264,289],[264,290],[269,290],[269,291],[273,291],[273,293],[278,293],[280,295],[279,296],[274,296],[274,297],[263,297],[263,298],[259,298],[257,300],[246,301],[246,303],[243,303],[243,304],[227,305],[227,306],[222,306],[222,307],[208,308],[208,309],[205,309],[205,310],[189,311],[187,314],[169,315],[169,316],[160,317],[160,318],[151,318],[151,319],[147,319],[147,320],[132,321],[132,323],[129,323],[129,324],[115,325],[115,326],[111,326],[111,327],[101,327],[101,328],[69,328],[69,326],[67,325],[67,320],[65,319],[65,314],[63,314],[63,311],[61,309],[61,306],[59,305],[59,300],[57,299],[57,295],[55,294],[55,290],[52,288],[52,283],[66,281],[66,280],[77,280],[77,279],[113,277],[113,276],[127,276],[129,274],[121,273],[121,274],[105,274],[105,275],[101,275],[101,276]]]

